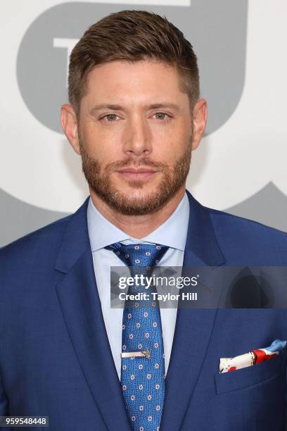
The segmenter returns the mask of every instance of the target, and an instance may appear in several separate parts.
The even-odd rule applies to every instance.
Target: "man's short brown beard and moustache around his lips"
[[[150,161],[141,158],[135,163],[132,158],[125,161],[108,163],[105,168],[95,159],[89,156],[82,142],[79,142],[82,156],[82,171],[90,189],[99,196],[110,208],[125,215],[145,215],[155,213],[164,206],[180,187],[184,185],[189,174],[191,164],[191,145],[184,154],[174,160],[172,168],[165,163]],[[110,175],[122,168],[151,168],[162,173],[162,178],[154,192],[141,193],[145,182],[141,180],[129,180],[130,192],[122,192],[120,184],[117,186],[110,179]]]

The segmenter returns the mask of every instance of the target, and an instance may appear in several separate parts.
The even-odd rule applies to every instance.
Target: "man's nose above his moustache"
[[[151,153],[151,130],[141,115],[129,120],[124,136],[124,151],[129,156],[147,156]]]

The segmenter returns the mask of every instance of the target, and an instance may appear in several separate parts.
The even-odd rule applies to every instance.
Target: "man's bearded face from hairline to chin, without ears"
[[[179,76],[162,62],[113,61],[87,78],[79,152],[91,192],[120,213],[152,213],[185,187],[193,118]]]

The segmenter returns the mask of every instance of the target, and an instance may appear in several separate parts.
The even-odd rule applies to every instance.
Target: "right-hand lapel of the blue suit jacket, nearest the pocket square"
[[[190,215],[183,275],[186,267],[216,268],[225,261],[217,244],[207,208],[193,199],[189,192],[187,194]],[[212,268],[206,269],[205,282],[212,281],[216,273]],[[162,411],[161,430],[179,430],[184,420],[184,414],[191,401],[208,349],[216,314],[216,308],[178,308],[177,310],[172,354],[165,380],[165,404]]]

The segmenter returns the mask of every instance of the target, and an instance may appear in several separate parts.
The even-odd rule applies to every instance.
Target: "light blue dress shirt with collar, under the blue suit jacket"
[[[170,247],[160,261],[160,266],[182,266],[184,249],[189,225],[189,198],[187,194],[179,202],[175,211],[165,223],[146,237],[137,239],[129,237],[118,227],[110,223],[94,206],[91,197],[87,208],[87,222],[91,251],[93,254],[94,271],[98,295],[101,300],[103,320],[110,342],[110,349],[115,361],[115,368],[120,379],[122,353],[122,308],[110,308],[110,267],[124,266],[125,264],[113,251],[104,249],[114,242],[123,244],[152,243]],[[162,322],[162,337],[165,351],[165,375],[170,363],[172,341],[174,336],[177,308],[160,307]]]

